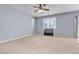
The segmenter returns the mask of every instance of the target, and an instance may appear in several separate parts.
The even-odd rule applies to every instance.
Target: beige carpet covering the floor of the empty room
[[[79,43],[73,38],[29,36],[0,44],[0,53],[72,54],[79,53]]]

